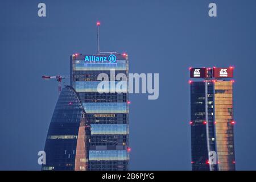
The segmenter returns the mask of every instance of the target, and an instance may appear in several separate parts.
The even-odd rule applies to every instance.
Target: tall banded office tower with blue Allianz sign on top
[[[129,169],[129,101],[126,86],[115,89],[119,73],[128,77],[129,61],[126,53],[105,55],[73,54],[71,85],[79,94],[91,126],[89,170]],[[103,73],[103,74],[102,74]],[[104,77],[109,85],[98,88]],[[117,86],[118,87],[118,86]],[[106,91],[106,90],[104,90]],[[125,91],[119,93],[119,91]]]

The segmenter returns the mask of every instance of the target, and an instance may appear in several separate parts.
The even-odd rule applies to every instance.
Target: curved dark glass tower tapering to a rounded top
[[[89,136],[90,126],[79,97],[71,86],[65,86],[52,115],[42,170],[87,170]]]

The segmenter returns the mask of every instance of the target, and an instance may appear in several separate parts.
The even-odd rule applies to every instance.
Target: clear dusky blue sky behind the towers
[[[47,16],[38,17],[38,3]],[[210,2],[217,17],[208,16]],[[39,170],[69,55],[129,53],[130,73],[159,73],[159,99],[131,94],[130,169],[191,170],[189,67],[234,65],[237,169],[256,170],[256,1],[1,1],[0,169]],[[66,81],[66,84],[69,80]]]

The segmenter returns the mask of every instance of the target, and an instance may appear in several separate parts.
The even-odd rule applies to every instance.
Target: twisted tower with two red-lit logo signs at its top
[[[235,170],[233,67],[190,72],[192,170]]]

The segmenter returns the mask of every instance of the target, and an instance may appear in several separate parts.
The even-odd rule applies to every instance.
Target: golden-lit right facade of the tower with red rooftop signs
[[[218,167],[223,171],[235,170],[233,82],[217,81],[214,85]]]

